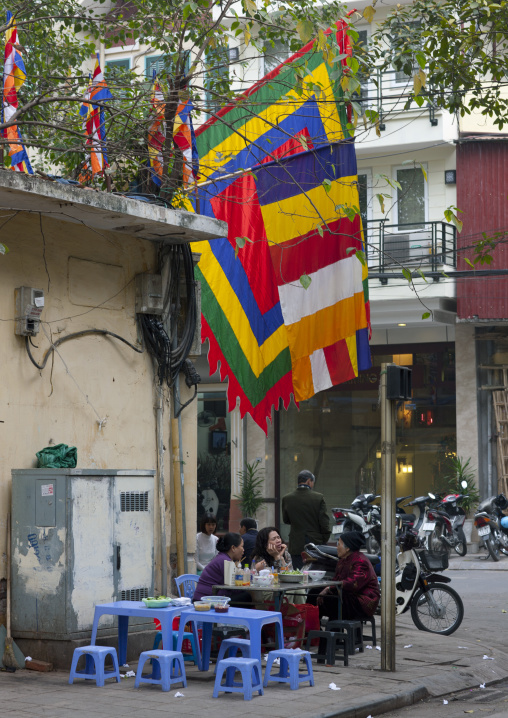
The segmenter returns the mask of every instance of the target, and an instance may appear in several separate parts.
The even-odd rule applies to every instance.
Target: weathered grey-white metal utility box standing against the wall
[[[92,630],[96,603],[153,595],[154,475],[100,469],[12,471],[16,637],[83,638]],[[101,628],[113,624],[109,616]]]

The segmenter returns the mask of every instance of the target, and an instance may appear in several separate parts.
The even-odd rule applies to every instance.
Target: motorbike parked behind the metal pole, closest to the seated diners
[[[399,540],[400,552],[395,567],[395,613],[411,611],[413,623],[420,631],[450,635],[464,618],[464,605],[450,586],[447,576],[439,572],[448,568],[448,554],[424,548],[416,532],[406,530]],[[305,545],[305,560],[313,568],[335,573],[337,551],[333,546]],[[379,556],[364,554],[380,575]],[[382,587],[381,587],[382,590]]]

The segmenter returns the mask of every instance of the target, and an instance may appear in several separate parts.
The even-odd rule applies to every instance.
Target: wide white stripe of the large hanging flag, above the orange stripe
[[[362,265],[355,256],[322,267],[309,274],[309,277],[312,281],[308,289],[304,289],[299,282],[279,287],[280,306],[286,326],[363,292]]]

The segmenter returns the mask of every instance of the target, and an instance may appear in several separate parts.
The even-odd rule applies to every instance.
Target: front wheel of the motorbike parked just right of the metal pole
[[[449,636],[464,618],[464,605],[459,594],[442,583],[429,584],[429,591],[419,589],[411,600],[411,618],[419,631]],[[428,593],[432,594],[433,601]]]

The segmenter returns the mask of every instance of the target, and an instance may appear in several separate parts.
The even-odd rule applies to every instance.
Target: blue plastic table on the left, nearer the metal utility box
[[[147,608],[144,603],[139,603],[138,601],[113,601],[112,603],[99,603],[95,606],[91,645],[94,646],[95,641],[97,640],[97,629],[99,627],[100,617],[105,615],[118,616],[118,663],[120,666],[123,666],[124,663],[127,663],[127,635],[129,632],[129,618],[130,616],[136,616],[137,618],[157,618],[161,624],[162,645],[168,650],[171,650],[173,646],[173,619],[180,615],[182,608],[185,608],[185,606]],[[89,671],[89,658],[90,657],[87,656],[87,665],[85,669],[87,673],[93,672],[92,668]]]

